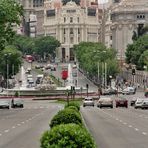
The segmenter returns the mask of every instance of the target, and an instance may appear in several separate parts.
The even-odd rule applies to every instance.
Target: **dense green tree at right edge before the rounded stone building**
[[[126,62],[137,66],[137,69],[143,69],[147,65],[147,51],[148,51],[148,35],[143,35],[138,38],[133,44],[127,46]],[[143,55],[144,54],[144,55]]]

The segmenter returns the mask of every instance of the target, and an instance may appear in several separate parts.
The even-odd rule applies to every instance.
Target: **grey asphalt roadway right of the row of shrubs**
[[[148,148],[148,110],[95,106],[81,113],[98,148]]]

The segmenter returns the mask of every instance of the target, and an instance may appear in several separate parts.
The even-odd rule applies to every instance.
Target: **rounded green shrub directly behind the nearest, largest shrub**
[[[74,109],[64,109],[59,111],[51,120],[50,127],[59,125],[59,124],[68,124],[76,123],[82,125],[82,119],[79,112]]]

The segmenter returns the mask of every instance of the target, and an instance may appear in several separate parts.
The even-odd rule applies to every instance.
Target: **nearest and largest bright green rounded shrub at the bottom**
[[[76,124],[61,124],[46,131],[41,148],[96,148],[91,135]]]

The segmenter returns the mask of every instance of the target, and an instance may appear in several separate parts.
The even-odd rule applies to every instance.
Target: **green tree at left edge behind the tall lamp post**
[[[18,73],[19,67],[22,64],[22,55],[14,46],[7,46],[3,51],[0,52],[0,71],[6,78],[6,64],[8,64],[8,77]]]

